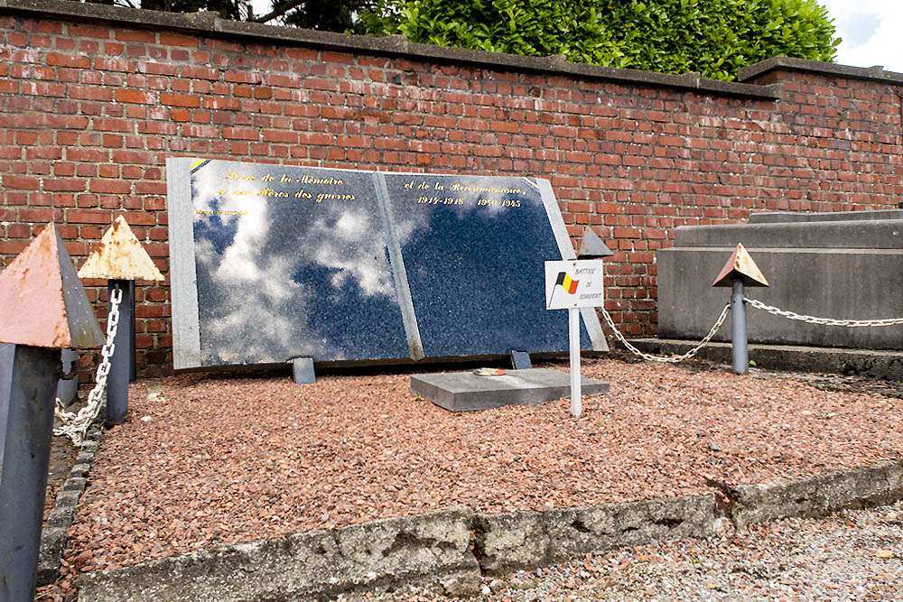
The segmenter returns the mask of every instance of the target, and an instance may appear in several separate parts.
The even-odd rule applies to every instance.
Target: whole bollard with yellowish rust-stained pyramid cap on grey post
[[[113,339],[107,375],[107,422],[120,424],[128,413],[128,383],[135,380],[135,281],[163,280],[163,274],[144,251],[135,234],[118,216],[79,269],[81,278],[107,279],[109,299],[122,292],[119,328]]]

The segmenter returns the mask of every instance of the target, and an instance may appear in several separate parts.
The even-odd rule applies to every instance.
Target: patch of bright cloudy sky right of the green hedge
[[[819,0],[842,38],[837,62],[903,73],[903,0]]]

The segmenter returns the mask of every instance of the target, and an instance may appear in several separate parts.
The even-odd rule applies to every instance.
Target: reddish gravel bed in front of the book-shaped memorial
[[[566,364],[553,364],[566,370]],[[903,403],[793,377],[615,359],[569,403],[453,414],[408,375],[180,375],[134,384],[70,529],[61,580],[219,543],[420,514],[542,510],[712,491],[898,458]]]

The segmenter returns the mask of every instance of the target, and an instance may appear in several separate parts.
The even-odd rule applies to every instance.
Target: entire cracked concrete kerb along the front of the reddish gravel
[[[744,528],[893,503],[903,499],[903,460],[759,485],[709,485],[723,495],[501,514],[456,506],[220,546],[91,573],[76,585],[83,602],[328,599],[356,591],[468,597],[478,593],[483,574],[663,539],[709,537],[731,522]]]

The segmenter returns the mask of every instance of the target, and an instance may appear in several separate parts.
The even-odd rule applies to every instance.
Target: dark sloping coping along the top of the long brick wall
[[[4,13],[27,14],[47,19],[74,18],[84,21],[123,23],[132,27],[166,29],[168,31],[178,30],[228,38],[230,40],[284,42],[286,44],[316,46],[336,51],[404,56],[411,60],[428,62],[466,63],[486,69],[517,69],[539,73],[554,73],[577,78],[604,79],[626,84],[679,88],[709,95],[752,97],[765,100],[774,100],[779,97],[778,91],[768,86],[704,79],[700,77],[699,73],[671,75],[638,69],[600,67],[598,65],[568,62],[564,60],[563,55],[526,57],[501,52],[473,51],[463,48],[407,42],[405,37],[401,35],[372,38],[345,33],[318,32],[298,27],[283,27],[221,19],[214,13],[175,14],[121,6],[82,4],[71,0],[0,0],[0,14]],[[805,63],[810,62],[813,62],[815,65],[824,65],[825,68],[837,67],[828,63],[805,61]],[[756,65],[752,67],[756,67]],[[854,67],[844,67],[843,69],[852,69],[852,73],[847,73],[846,77],[856,77],[855,73],[859,71],[863,71],[869,79],[874,79],[875,77],[870,69]],[[900,76],[900,78],[903,78],[903,76]],[[900,81],[903,81],[903,79],[900,79]]]

